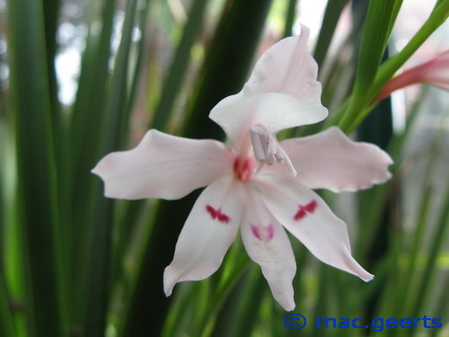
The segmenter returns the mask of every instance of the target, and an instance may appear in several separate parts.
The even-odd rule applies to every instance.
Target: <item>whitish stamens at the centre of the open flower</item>
[[[293,167],[286,151],[280,146],[275,135],[263,124],[255,124],[251,127],[251,143],[254,149],[254,156],[259,163],[255,175],[260,173],[263,165],[280,164],[286,161],[290,174],[295,177],[296,170]]]

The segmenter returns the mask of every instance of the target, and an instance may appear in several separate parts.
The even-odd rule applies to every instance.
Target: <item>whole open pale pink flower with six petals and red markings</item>
[[[182,198],[207,186],[180,233],[164,291],[206,279],[222,263],[240,230],[272,294],[295,308],[295,256],[286,230],[321,262],[368,281],[373,275],[351,256],[346,224],[311,189],[357,191],[390,178],[392,159],[377,146],[356,143],[339,129],[278,142],[277,131],[327,117],[317,66],[306,49],[308,29],[279,41],[257,62],[242,92],[210,112],[232,145],[149,130],[136,148],[106,155],[92,170],[117,199]],[[167,224],[168,225],[168,224]]]

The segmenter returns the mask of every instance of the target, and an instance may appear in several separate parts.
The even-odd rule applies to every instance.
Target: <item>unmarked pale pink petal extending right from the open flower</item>
[[[354,142],[338,128],[309,137],[281,142],[298,172],[297,179],[311,189],[357,191],[391,178],[392,158],[378,146]],[[277,167],[275,167],[277,166]],[[284,170],[273,165],[273,170]]]

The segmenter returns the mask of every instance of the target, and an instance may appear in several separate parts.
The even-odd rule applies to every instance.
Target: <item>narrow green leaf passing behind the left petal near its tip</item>
[[[128,64],[129,49],[136,17],[137,0],[129,0],[119,51],[110,84],[107,102],[105,138],[102,141],[101,155],[123,147],[128,136]],[[85,336],[95,337],[104,334],[110,301],[110,267],[112,200],[99,193],[95,207],[95,221],[92,235],[92,257],[88,279],[88,300],[86,308]]]

